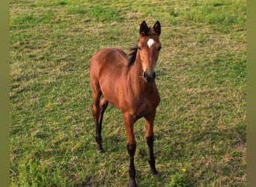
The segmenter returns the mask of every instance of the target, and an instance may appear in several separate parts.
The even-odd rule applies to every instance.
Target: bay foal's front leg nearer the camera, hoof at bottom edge
[[[134,154],[136,150],[136,141],[133,133],[135,119],[129,114],[123,114],[124,125],[127,132],[127,151],[129,153],[129,187],[137,186],[135,180]]]

